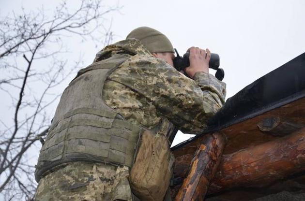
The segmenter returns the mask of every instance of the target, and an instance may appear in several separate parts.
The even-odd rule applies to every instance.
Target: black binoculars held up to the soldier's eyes
[[[176,48],[175,48],[175,52],[177,54],[177,57],[175,57],[173,60],[174,68],[177,69],[177,71],[181,71],[181,70],[184,70],[186,67],[189,67],[190,66],[190,59],[189,59],[190,53],[186,52],[183,55],[183,57],[181,57],[178,54],[178,51]],[[221,81],[225,77],[225,71],[223,69],[219,68],[219,61],[220,61],[219,55],[211,53],[211,58],[209,61],[209,68],[216,70],[215,77]]]

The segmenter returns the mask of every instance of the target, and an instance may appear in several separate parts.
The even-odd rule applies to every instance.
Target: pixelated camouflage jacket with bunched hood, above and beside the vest
[[[153,57],[138,40],[109,45],[94,61],[113,54],[130,58],[108,76],[103,99],[127,121],[151,129],[165,117],[184,133],[198,134],[224,103],[225,83],[204,72],[190,79]]]

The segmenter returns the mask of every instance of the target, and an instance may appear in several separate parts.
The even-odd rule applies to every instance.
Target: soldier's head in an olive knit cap
[[[149,27],[139,27],[132,30],[126,37],[126,39],[130,38],[138,39],[154,57],[166,60],[166,62],[171,66],[174,65],[174,48],[168,40],[168,37],[160,31]]]

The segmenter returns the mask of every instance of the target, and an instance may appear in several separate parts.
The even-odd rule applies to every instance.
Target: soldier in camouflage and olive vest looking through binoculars
[[[128,177],[143,130],[198,134],[224,103],[210,51],[189,51],[190,78],[173,68],[168,38],[148,27],[98,52],[61,96],[36,166],[35,200],[138,200]]]

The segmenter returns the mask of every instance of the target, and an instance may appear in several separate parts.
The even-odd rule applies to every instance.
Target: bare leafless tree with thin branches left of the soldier
[[[0,17],[0,93],[12,103],[0,119],[0,200],[33,198],[38,143],[50,126],[48,108],[58,100],[60,84],[81,64],[81,59],[71,64],[62,57],[67,51],[65,39],[78,36],[103,40],[104,45],[112,39],[111,23],[104,22],[120,7],[93,0],[77,3],[73,10],[63,1],[52,15],[42,7]]]

